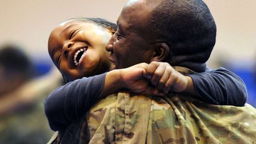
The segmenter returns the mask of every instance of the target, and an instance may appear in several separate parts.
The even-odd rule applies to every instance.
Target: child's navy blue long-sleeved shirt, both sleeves
[[[55,89],[44,101],[44,111],[52,130],[65,129],[68,124],[81,119],[99,99],[105,75],[76,79]],[[188,75],[200,100],[217,105],[243,106],[247,89],[235,73],[225,68],[206,69],[206,72]]]

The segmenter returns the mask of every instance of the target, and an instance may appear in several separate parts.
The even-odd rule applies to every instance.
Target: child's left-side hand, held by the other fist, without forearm
[[[139,94],[163,95],[146,79],[148,63],[139,63],[129,68],[120,69],[123,88]]]

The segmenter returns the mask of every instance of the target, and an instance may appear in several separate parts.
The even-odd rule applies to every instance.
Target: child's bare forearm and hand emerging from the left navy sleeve
[[[153,87],[146,79],[148,66],[148,63],[139,63],[129,68],[107,72],[100,97],[113,94],[113,92],[117,92],[120,89],[129,89],[130,92],[139,94],[164,95],[163,92]]]

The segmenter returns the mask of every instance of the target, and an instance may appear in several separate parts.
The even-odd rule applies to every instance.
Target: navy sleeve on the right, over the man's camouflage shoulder
[[[247,101],[245,83],[225,68],[207,69],[188,75],[200,99],[210,104],[243,106]]]

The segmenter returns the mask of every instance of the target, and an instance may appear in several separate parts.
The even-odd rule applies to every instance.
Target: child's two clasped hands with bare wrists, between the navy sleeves
[[[120,89],[149,95],[164,95],[169,91],[186,92],[195,95],[193,81],[164,62],[139,63],[125,69],[107,73],[101,95]]]

